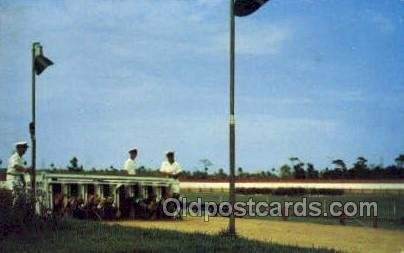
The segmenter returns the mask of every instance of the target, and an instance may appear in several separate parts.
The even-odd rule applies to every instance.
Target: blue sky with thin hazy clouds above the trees
[[[37,166],[228,168],[227,0],[0,1],[0,159],[30,140]],[[404,153],[404,1],[271,0],[236,18],[236,166],[317,168]],[[29,155],[26,158],[29,161]]]

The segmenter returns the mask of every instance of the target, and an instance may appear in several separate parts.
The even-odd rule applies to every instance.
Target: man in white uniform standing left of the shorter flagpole
[[[25,188],[26,182],[24,178],[30,171],[29,168],[25,167],[25,161],[22,158],[28,149],[27,142],[17,142],[15,148],[16,151],[8,160],[7,167],[7,185],[11,190],[16,187]]]

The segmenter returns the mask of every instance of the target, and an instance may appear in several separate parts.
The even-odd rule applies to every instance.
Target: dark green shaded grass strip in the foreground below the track
[[[13,235],[0,242],[1,252],[336,252],[300,248],[220,235],[129,228],[90,221],[65,220],[59,229]]]

